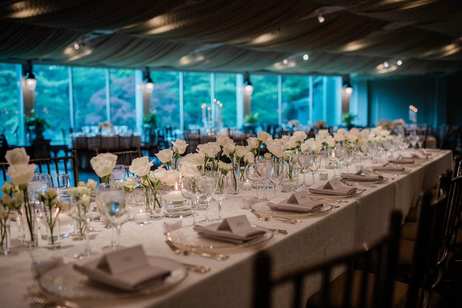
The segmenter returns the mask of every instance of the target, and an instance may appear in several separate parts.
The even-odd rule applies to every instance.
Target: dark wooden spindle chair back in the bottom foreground
[[[304,278],[309,275],[320,273],[322,275],[321,302],[316,307],[329,307],[329,297],[332,295],[330,290],[330,274],[334,268],[346,266],[351,268],[355,260],[364,260],[365,271],[362,272],[360,286],[360,307],[365,307],[366,292],[368,290],[368,272],[373,270],[375,275],[373,306],[376,308],[389,308],[391,305],[393,279],[396,272],[396,260],[398,255],[398,244],[400,237],[401,212],[393,211],[390,215],[389,234],[382,238],[371,248],[361,249],[353,254],[344,255],[320,265],[297,269],[292,272],[274,277],[271,275],[271,258],[265,252],[257,255],[255,263],[255,290],[254,307],[271,307],[271,290],[279,284],[292,281],[294,284],[293,307],[301,307],[304,299],[302,298],[302,287]],[[373,255],[376,257],[375,265],[372,265]],[[353,271],[347,270],[345,281],[345,292],[343,293],[344,307],[349,307],[350,289],[352,285]],[[370,283],[370,282],[369,282]],[[311,305],[307,307],[312,307]]]

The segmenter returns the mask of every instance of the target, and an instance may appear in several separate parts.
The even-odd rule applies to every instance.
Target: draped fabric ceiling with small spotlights
[[[0,2],[0,61],[380,76],[462,68],[461,0]]]

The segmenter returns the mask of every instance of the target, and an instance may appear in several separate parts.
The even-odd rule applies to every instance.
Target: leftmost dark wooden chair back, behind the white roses
[[[79,163],[77,160],[77,150],[72,150],[71,156],[61,156],[61,157],[50,157],[50,158],[37,158],[29,160],[30,163],[34,163],[38,165],[38,170],[40,173],[45,173],[43,170],[46,170],[46,173],[53,174],[53,173],[62,173],[62,169],[60,171],[60,162],[62,161],[64,164],[64,173],[69,174],[69,170],[67,168],[67,162],[72,161],[72,171],[74,176],[74,186],[77,186],[79,183]],[[46,169],[44,169],[44,166]],[[6,172],[8,170],[8,163],[0,162],[0,166],[3,172],[3,181],[6,182]]]

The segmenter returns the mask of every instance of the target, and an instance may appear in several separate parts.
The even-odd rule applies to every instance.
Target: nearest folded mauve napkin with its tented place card
[[[74,264],[74,269],[91,280],[124,291],[137,291],[161,282],[170,274],[162,262],[153,267],[141,245],[115,251],[83,265]]]

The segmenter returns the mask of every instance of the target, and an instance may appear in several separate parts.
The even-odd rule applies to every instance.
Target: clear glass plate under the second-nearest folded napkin
[[[265,228],[261,228],[265,229]],[[265,233],[258,237],[255,240],[242,243],[234,244],[228,242],[222,242],[216,239],[202,237],[193,230],[193,226],[187,226],[179,228],[173,231],[170,231],[166,234],[167,240],[176,244],[188,248],[198,248],[198,249],[229,249],[229,248],[243,248],[252,245],[257,245],[263,242],[266,242],[273,237],[273,231],[265,229]]]

